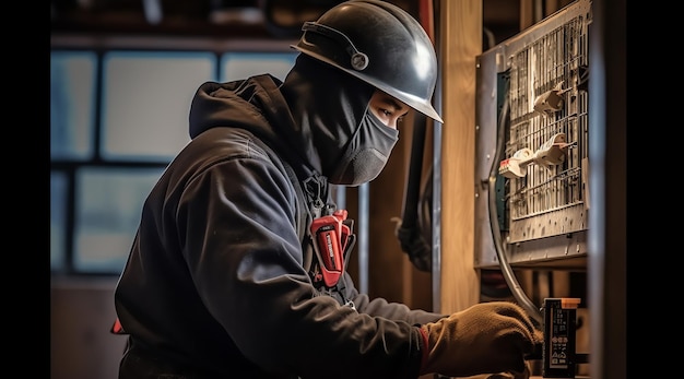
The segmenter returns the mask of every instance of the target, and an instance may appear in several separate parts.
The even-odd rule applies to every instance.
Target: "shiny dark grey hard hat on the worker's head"
[[[386,1],[351,0],[302,26],[292,47],[330,63],[443,122],[431,104],[437,57],[423,26]]]

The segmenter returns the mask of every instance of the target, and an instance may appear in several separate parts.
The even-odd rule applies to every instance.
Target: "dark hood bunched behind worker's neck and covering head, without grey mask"
[[[243,128],[294,167],[330,176],[359,128],[374,90],[299,55],[284,82],[262,74],[202,84],[190,107],[190,138],[215,127]]]

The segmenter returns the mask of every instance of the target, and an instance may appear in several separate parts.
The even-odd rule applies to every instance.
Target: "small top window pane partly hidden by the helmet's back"
[[[298,52],[226,52],[221,57],[222,81],[270,73],[284,80]]]

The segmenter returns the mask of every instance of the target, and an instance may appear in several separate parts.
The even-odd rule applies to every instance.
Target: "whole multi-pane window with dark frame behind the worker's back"
[[[205,81],[271,73],[294,51],[52,49],[50,267],[120,274],[142,204],[189,142],[188,112]]]

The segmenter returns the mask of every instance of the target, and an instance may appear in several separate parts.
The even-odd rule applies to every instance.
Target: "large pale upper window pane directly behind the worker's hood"
[[[216,57],[193,51],[111,51],[104,58],[104,158],[170,161],[185,146],[197,88]]]

